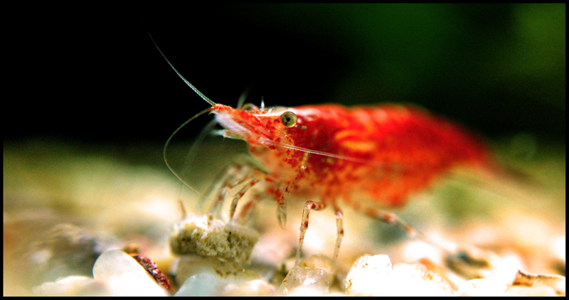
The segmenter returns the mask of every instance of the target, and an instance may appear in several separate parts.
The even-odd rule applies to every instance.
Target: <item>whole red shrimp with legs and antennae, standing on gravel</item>
[[[262,195],[276,200],[277,219],[285,227],[289,198],[318,199],[304,203],[297,265],[312,210],[327,206],[334,209],[337,230],[334,264],[344,237],[341,201],[413,236],[417,235],[413,227],[383,209],[404,205],[410,195],[425,190],[454,167],[496,168],[482,141],[459,125],[418,107],[247,104],[233,108],[203,95],[158,50],[186,85],[211,105],[188,119],[166,141],[166,164],[169,166],[166,147],[174,134],[201,114],[215,114],[216,122],[223,127],[216,134],[245,141],[249,154],[264,168],[252,164],[225,168],[211,185],[213,199],[218,202],[213,210],[218,209],[227,195],[233,194],[230,218],[234,220],[238,201],[253,186],[262,186]],[[240,216],[246,215],[262,195],[246,203]]]

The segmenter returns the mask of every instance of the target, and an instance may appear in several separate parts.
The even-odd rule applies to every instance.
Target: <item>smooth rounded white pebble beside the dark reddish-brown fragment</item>
[[[148,272],[120,250],[103,253],[93,266],[93,277],[105,283],[112,296],[167,296]]]

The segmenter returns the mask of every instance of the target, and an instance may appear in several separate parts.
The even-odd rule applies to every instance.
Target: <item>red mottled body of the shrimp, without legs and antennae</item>
[[[286,111],[297,115],[293,127],[282,126],[280,115]],[[220,105],[214,112],[230,115],[248,129],[234,137],[248,141],[250,153],[270,170],[268,179],[275,184],[268,193],[275,198],[282,196],[280,185],[293,183],[291,192],[302,199],[316,197],[324,205],[342,199],[367,211],[402,205],[454,166],[491,167],[481,141],[413,107],[310,105],[241,111]]]

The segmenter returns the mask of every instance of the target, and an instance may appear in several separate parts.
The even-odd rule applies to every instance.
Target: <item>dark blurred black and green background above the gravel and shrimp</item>
[[[410,102],[491,138],[565,141],[565,4],[81,2],[4,13],[4,141],[166,141],[208,105],[147,28],[226,105],[249,86],[257,105]]]

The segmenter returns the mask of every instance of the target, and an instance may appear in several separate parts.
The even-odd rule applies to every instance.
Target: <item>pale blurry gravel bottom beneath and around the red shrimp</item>
[[[147,290],[144,278],[140,279],[144,289],[133,288],[139,282],[119,290],[117,286],[139,280],[132,275],[131,281],[124,281],[124,274],[139,270],[131,269],[132,262],[116,252],[112,259],[120,263],[110,260],[105,266],[124,265],[124,269],[118,275],[112,270],[110,275],[105,273],[106,279],[94,278],[95,262],[109,250],[136,251],[151,259],[170,279],[172,290],[165,294],[488,295],[507,291],[542,295],[560,294],[561,285],[564,293],[565,145],[537,144],[537,151],[528,154],[512,149],[514,140],[497,144],[497,155],[540,184],[479,186],[440,181],[395,212],[430,243],[410,239],[402,230],[344,205],[345,237],[334,269],[329,260],[336,220],[329,209],[310,215],[302,253],[306,261],[301,269],[294,268],[304,199],[290,200],[285,229],[278,225],[273,201],[256,206],[242,224],[259,234],[248,263],[219,259],[215,254],[173,255],[172,228],[183,215],[178,199],[183,200],[186,215],[202,218],[204,214],[198,209],[198,195],[181,191],[179,181],[164,166],[162,145],[5,141],[4,295],[164,293],[159,288]],[[215,149],[209,153],[212,159],[219,157]],[[207,166],[201,170],[204,178],[216,173]],[[226,222],[225,205],[221,215]],[[516,275],[518,270],[563,277],[524,282],[526,277]],[[283,285],[285,278],[290,281]],[[374,284],[366,282],[370,278],[383,285],[373,289]]]

